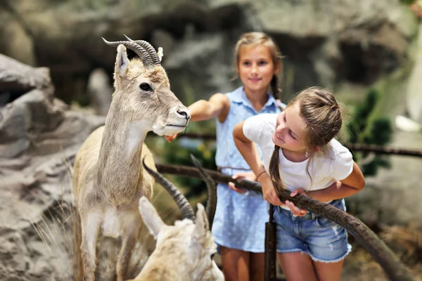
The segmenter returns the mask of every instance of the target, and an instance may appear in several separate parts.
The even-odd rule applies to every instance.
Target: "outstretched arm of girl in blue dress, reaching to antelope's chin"
[[[212,117],[218,117],[219,122],[224,122],[230,110],[230,100],[223,93],[215,93],[210,100],[198,100],[188,106],[191,114],[191,122],[208,120]],[[177,138],[178,133],[172,136],[165,136],[166,140],[171,143]]]

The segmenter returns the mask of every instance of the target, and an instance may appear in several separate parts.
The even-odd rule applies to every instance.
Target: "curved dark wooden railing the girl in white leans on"
[[[186,176],[190,178],[200,178],[196,168],[190,166],[156,164],[157,169],[163,174],[174,174],[178,176]],[[220,183],[236,183],[236,186],[252,190],[255,192],[262,192],[261,185],[253,181],[233,180],[231,176],[204,169],[207,174],[210,174],[214,181]],[[345,211],[337,209],[330,204],[319,202],[305,195],[290,197],[290,192],[286,190],[280,197],[281,201],[289,200],[293,202],[300,209],[307,209],[314,214],[323,216],[330,221],[343,226],[350,234],[352,234],[357,241],[373,256],[383,268],[386,275],[393,281],[411,281],[414,278],[409,273],[406,266],[395,256],[395,254],[388,248],[388,246],[381,240],[371,229],[369,229],[362,221],[354,216],[347,214]],[[218,200],[218,198],[217,198]]]

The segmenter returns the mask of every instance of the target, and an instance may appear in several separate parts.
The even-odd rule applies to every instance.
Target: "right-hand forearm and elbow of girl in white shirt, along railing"
[[[309,197],[312,197],[321,202],[328,202],[335,199],[345,198],[354,193],[359,192],[365,186],[365,178],[359,166],[353,162],[352,173],[347,178],[336,181],[328,188],[321,190],[314,190],[307,192]]]

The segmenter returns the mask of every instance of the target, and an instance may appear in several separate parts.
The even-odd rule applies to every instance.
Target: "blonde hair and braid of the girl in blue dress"
[[[269,48],[269,52],[271,53],[271,60],[274,63],[274,67],[276,65],[280,65],[280,72],[283,73],[283,63],[281,61],[281,52],[279,46],[276,45],[273,39],[269,37],[264,32],[248,32],[241,35],[236,43],[236,47],[234,49],[234,57],[236,58],[236,66],[239,64],[240,60],[240,51],[241,48],[244,46],[257,46],[257,45],[264,45]],[[271,92],[274,98],[280,99],[281,89],[279,87],[279,77],[276,74],[273,75],[271,82]]]

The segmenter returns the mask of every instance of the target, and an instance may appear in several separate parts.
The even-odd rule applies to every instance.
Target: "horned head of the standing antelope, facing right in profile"
[[[128,123],[141,122],[143,129],[160,136],[182,131],[191,118],[189,110],[170,90],[169,79],[153,46],[142,40],[103,40],[109,46],[117,46],[110,112],[114,110],[114,115],[120,112]],[[129,60],[127,48],[139,58]]]

